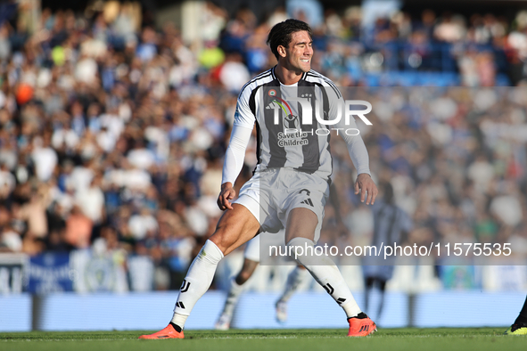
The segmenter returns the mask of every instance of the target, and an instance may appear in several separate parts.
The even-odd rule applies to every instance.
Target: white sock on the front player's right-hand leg
[[[350,288],[339,268],[334,264],[333,260],[325,256],[309,255],[306,248],[314,247],[313,241],[306,238],[293,238],[287,243],[288,247],[292,247],[292,254],[296,252],[298,255],[296,260],[298,263],[306,267],[315,278],[315,280],[324,288],[325,291],[344,309],[344,312],[350,317],[355,317],[361,312],[360,308],[351,294]],[[301,249],[294,249],[294,247],[301,247]],[[312,252],[312,251],[310,251]],[[294,258],[294,256],[293,256]]]

